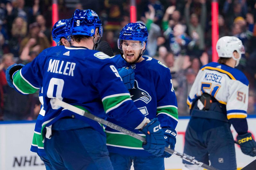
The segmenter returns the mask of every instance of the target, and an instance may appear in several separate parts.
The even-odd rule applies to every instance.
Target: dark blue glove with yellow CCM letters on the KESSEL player
[[[252,138],[251,133],[245,133],[236,137],[238,144],[240,145],[241,151],[249,156],[256,156],[256,142]]]

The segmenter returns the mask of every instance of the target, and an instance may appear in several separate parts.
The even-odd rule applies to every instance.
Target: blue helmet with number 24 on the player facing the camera
[[[141,23],[128,23],[121,30],[119,39],[117,40],[117,46],[119,49],[123,47],[123,40],[133,40],[140,41],[141,46],[139,49],[142,49],[148,40],[148,30],[147,27]]]

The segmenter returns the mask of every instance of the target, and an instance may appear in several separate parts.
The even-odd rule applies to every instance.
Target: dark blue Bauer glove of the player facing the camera
[[[177,136],[176,131],[172,128],[163,128],[162,130],[164,132],[165,147],[171,148],[172,150],[174,150],[174,147],[176,144],[176,136]],[[169,158],[170,156],[172,156],[172,154],[168,152],[164,152],[164,154],[161,157]]]

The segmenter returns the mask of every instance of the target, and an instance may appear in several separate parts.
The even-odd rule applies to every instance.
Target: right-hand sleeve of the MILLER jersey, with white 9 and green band
[[[108,117],[133,129],[143,122],[145,116],[134,105],[113,61],[104,62],[98,72],[94,72],[92,82],[100,93]]]

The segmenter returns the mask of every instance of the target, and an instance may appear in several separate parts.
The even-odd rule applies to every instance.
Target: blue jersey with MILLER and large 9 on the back
[[[84,120],[105,135],[100,123],[54,105],[52,98],[81,107],[103,119],[114,118],[132,129],[145,118],[134,106],[115,63],[108,55],[95,50],[64,46],[47,48],[13,74],[13,85],[23,94],[44,87],[42,129],[68,116]]]

